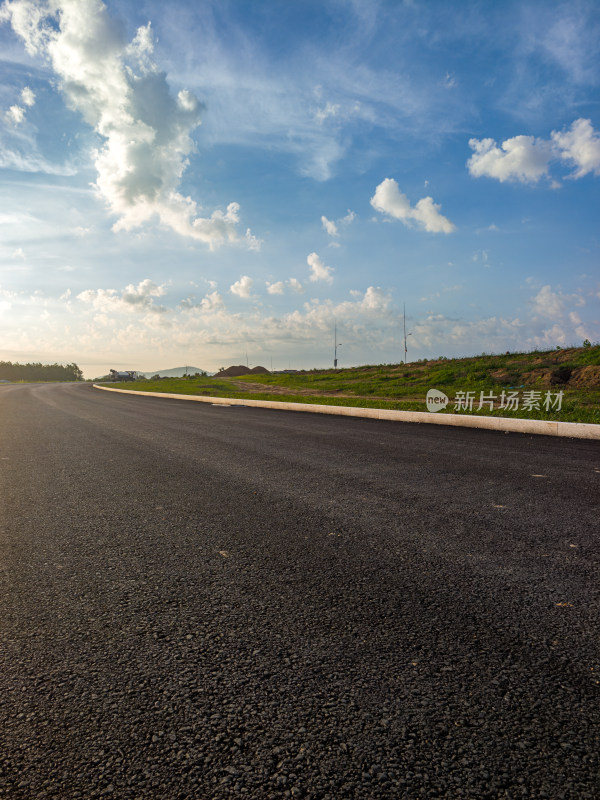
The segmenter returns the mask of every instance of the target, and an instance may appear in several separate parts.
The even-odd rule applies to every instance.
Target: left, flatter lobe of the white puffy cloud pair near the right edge
[[[501,147],[494,139],[470,139],[469,147],[474,150],[467,161],[471,175],[497,178],[501,183],[511,180],[535,183],[548,174],[552,157],[549,143],[533,136],[514,136],[502,142]]]

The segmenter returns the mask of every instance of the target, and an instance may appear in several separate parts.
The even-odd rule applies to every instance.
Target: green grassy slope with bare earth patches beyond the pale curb
[[[571,374],[566,383],[556,383],[557,370]],[[439,359],[412,364],[365,366],[341,370],[312,370],[292,375],[248,375],[240,378],[163,378],[115,384],[121,388],[176,394],[202,394],[255,400],[322,403],[424,411],[428,389],[445,392],[451,399],[459,390],[475,392],[472,412],[504,417],[554,419],[600,423],[600,346],[549,352],[481,355],[472,358]],[[479,393],[500,395],[529,390],[553,394],[562,390],[561,411],[517,411],[495,408],[477,410]],[[451,402],[446,412],[456,413]]]

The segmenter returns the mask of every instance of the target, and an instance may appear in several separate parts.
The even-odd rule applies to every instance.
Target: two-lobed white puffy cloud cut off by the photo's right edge
[[[552,161],[564,161],[575,167],[571,178],[592,172],[600,175],[600,136],[589,119],[575,120],[566,131],[552,131],[550,139],[514,136],[498,147],[494,139],[470,139],[474,151],[467,161],[473,177],[504,181],[537,183],[549,177]],[[553,181],[555,188],[558,184]]]

